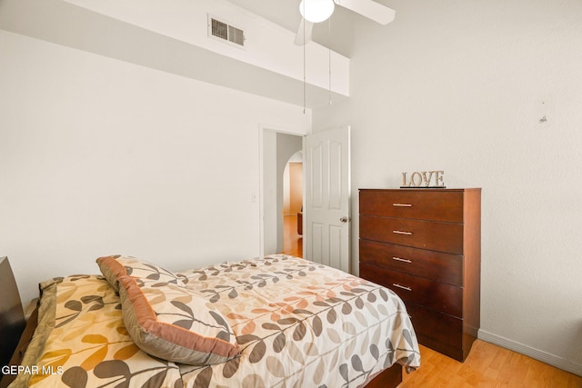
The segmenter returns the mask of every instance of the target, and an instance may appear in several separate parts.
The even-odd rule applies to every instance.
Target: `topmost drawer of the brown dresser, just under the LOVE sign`
[[[462,190],[360,190],[360,214],[463,222]]]

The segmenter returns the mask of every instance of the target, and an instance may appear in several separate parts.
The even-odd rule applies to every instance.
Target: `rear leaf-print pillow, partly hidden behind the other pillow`
[[[131,256],[105,256],[97,259],[97,264],[101,273],[115,290],[119,290],[118,279],[121,276],[130,275],[134,277],[156,280],[159,283],[184,285],[182,280],[166,268],[156,264],[151,264]]]

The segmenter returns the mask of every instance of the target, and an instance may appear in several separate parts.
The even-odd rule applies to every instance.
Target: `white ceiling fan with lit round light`
[[[301,0],[299,12],[303,17],[297,29],[295,44],[304,45],[309,42],[313,25],[327,20],[334,13],[336,5],[363,15],[380,25],[392,22],[396,15],[395,10],[374,0]]]

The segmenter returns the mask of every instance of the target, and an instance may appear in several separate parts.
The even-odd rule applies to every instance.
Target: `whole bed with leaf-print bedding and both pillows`
[[[420,365],[396,294],[325,265],[288,255],[179,273],[127,256],[97,264],[101,274],[39,284],[34,335],[4,385],[393,387]]]

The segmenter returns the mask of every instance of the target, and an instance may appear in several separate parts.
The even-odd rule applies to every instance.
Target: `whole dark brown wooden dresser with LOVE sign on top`
[[[465,361],[477,338],[481,189],[360,189],[360,276],[406,303],[418,342]]]

